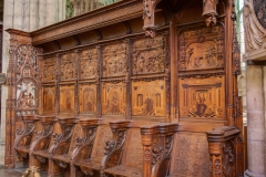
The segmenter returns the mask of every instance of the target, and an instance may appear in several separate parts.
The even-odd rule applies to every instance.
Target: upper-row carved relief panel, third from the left
[[[92,79],[98,74],[98,49],[88,49],[80,54],[80,79]]]

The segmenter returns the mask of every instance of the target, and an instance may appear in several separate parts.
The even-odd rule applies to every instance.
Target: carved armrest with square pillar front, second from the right
[[[167,174],[165,160],[170,160],[174,134],[178,124],[161,123],[141,127],[142,145],[144,149],[143,177],[165,176]]]

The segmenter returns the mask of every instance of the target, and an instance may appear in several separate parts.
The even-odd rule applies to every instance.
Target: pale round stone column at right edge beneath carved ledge
[[[248,177],[265,177],[264,73],[266,69],[260,65],[246,66]]]

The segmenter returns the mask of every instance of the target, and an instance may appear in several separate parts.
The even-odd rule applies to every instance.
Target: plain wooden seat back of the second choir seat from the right
[[[123,156],[123,165],[143,168],[143,146],[140,128],[130,128],[126,139],[126,152]]]

